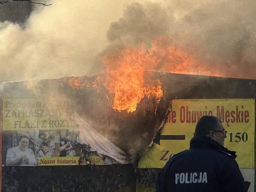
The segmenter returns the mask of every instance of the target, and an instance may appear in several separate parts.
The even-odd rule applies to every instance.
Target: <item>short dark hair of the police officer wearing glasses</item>
[[[222,123],[221,120],[215,116],[202,116],[195,126],[195,135],[207,135],[216,130],[219,123]]]

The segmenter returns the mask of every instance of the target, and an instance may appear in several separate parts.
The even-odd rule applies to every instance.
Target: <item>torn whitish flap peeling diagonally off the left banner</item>
[[[90,145],[93,151],[97,151],[97,153],[101,155],[106,155],[119,164],[130,163],[126,160],[125,152],[94,130],[92,126],[77,114],[75,115],[75,121],[80,131],[79,143],[82,145]]]

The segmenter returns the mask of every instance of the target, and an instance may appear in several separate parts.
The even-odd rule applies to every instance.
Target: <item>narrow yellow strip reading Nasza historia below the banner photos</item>
[[[39,157],[37,165],[39,166],[53,166],[53,165],[79,165],[80,157]],[[97,155],[89,156],[86,161],[85,158],[81,160],[80,165],[102,165],[102,159]]]

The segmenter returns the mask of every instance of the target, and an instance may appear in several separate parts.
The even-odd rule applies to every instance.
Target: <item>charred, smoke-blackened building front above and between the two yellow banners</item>
[[[136,101],[135,110],[120,110],[114,105],[115,93],[105,87],[106,76],[63,77],[41,80],[35,84],[29,81],[5,83],[1,84],[0,98],[43,98],[57,104],[69,101],[80,123],[85,122],[82,124],[93,128],[126,154],[140,156],[164,120],[172,99],[231,98],[231,95],[236,95],[236,98],[256,97],[255,80],[145,71],[142,85],[156,83],[151,84],[154,87],[152,90],[161,86],[162,97],[156,97],[156,94],[148,97],[149,94],[145,94]],[[244,89],[246,93],[241,91]],[[131,96],[127,94],[123,98]],[[94,137],[85,134],[93,142]],[[103,141],[101,136],[95,138]]]

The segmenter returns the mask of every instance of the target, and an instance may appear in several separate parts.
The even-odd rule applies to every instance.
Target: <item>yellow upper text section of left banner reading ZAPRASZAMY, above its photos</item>
[[[68,102],[3,99],[3,131],[72,129],[77,125]]]

